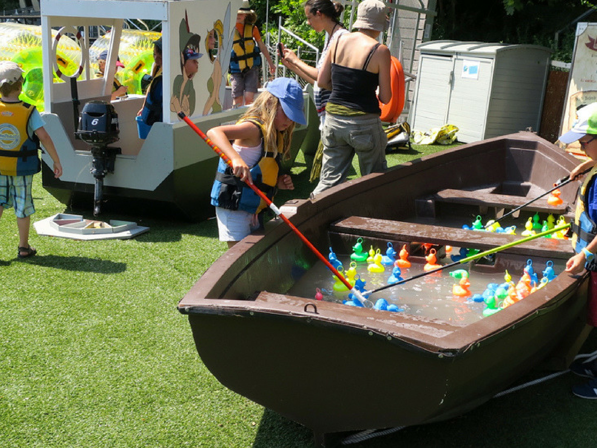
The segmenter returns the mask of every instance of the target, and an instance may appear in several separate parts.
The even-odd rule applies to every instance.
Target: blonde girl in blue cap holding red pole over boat
[[[220,241],[227,241],[228,247],[259,228],[257,214],[266,207],[245,180],[254,183],[270,200],[276,188],[294,189],[290,176],[279,175],[278,167],[279,157],[290,151],[295,123],[307,123],[303,90],[294,79],[276,78],[236,124],[207,132],[233,166],[220,159],[211,189]]]

